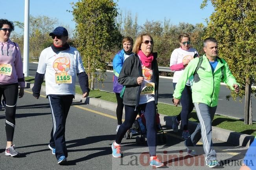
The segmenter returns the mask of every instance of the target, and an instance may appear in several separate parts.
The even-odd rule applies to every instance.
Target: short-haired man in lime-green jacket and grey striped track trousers
[[[186,66],[183,79],[176,84],[173,94],[173,103],[175,106],[179,104],[181,92],[185,87],[186,81],[194,75],[192,86],[192,100],[197,111],[199,124],[195,132],[184,142],[189,155],[195,155],[193,147],[201,139],[206,154],[206,165],[210,168],[219,165],[216,159],[216,152],[212,144],[212,120],[217,109],[220,83],[225,82],[236,93],[239,92],[239,84],[230,72],[227,62],[217,57],[218,44],[215,38],[209,37],[204,40],[203,61],[197,69],[199,58],[191,60]]]

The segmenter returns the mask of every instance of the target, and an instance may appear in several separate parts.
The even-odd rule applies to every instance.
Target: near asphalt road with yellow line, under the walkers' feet
[[[123,159],[112,157],[111,144],[116,135],[115,113],[81,102],[74,101],[66,122],[66,144],[68,164],[57,165],[55,155],[48,148],[52,118],[48,99],[41,93],[37,100],[26,89],[24,97],[18,99],[16,126],[13,143],[20,152],[19,157],[4,155],[6,134],[4,130],[5,112],[0,111],[0,170],[139,170],[151,169],[148,166],[148,148],[123,139]],[[199,142],[199,156],[186,155],[180,133],[166,129],[167,143],[158,143],[157,155],[168,170],[206,170],[202,143]],[[246,148],[214,139],[220,169],[239,169]],[[144,154],[142,154],[144,153]],[[218,168],[218,169],[219,169]]]

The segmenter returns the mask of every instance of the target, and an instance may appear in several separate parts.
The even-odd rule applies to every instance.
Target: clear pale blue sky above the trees
[[[78,0],[30,0],[29,14],[33,16],[46,15],[50,18],[57,18],[60,23],[75,28],[72,20],[70,2]],[[190,24],[203,23],[204,19],[214,12],[211,4],[205,9],[200,9],[203,0],[114,0],[117,2],[120,12],[131,12],[133,16],[138,15],[138,24],[142,25],[146,20],[164,21],[170,19],[170,24],[177,25],[179,22]],[[24,22],[25,0],[0,0],[0,18],[11,21]],[[20,29],[15,28],[18,33]]]

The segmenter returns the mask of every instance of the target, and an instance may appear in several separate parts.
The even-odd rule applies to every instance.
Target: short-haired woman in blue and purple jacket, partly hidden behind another
[[[124,60],[129,57],[133,52],[133,38],[124,37],[123,41],[123,49],[120,50],[113,59],[113,70],[114,70],[114,81],[113,81],[113,91],[116,93],[117,107],[116,107],[116,118],[117,118],[117,127],[118,128],[122,124],[122,116],[123,116],[123,99],[120,97],[120,92],[122,91],[123,85],[118,83],[118,76],[123,67]]]

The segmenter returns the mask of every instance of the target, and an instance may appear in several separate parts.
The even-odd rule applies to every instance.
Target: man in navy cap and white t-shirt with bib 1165
[[[75,97],[76,75],[79,79],[83,97],[89,94],[88,76],[83,67],[82,58],[76,48],[67,44],[68,31],[57,27],[50,33],[53,44],[44,49],[39,57],[33,96],[39,99],[41,84],[45,76],[46,96],[50,102],[53,128],[50,144],[59,165],[67,162],[68,152],[65,141],[65,124],[68,111]]]

